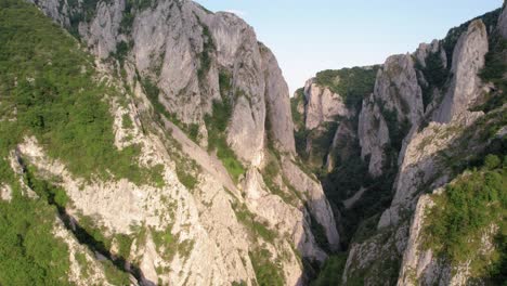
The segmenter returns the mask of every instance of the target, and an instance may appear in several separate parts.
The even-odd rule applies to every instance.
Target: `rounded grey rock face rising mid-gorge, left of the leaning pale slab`
[[[378,72],[374,94],[363,102],[359,120],[361,154],[363,158],[369,156],[373,176],[382,173],[385,145],[401,141],[407,132],[404,129],[417,125],[422,113],[421,89],[412,56],[390,56]]]

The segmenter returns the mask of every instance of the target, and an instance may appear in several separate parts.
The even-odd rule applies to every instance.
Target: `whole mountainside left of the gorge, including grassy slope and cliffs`
[[[69,34],[32,4],[1,5],[0,204],[52,211],[40,233],[69,263],[41,260],[28,281],[299,285],[339,247],[251,27],[191,1],[35,4]]]

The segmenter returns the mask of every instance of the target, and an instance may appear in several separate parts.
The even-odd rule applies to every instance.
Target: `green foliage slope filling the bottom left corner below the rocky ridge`
[[[0,199],[0,284],[70,285],[67,246],[52,234],[56,209],[12,186],[12,200]]]

